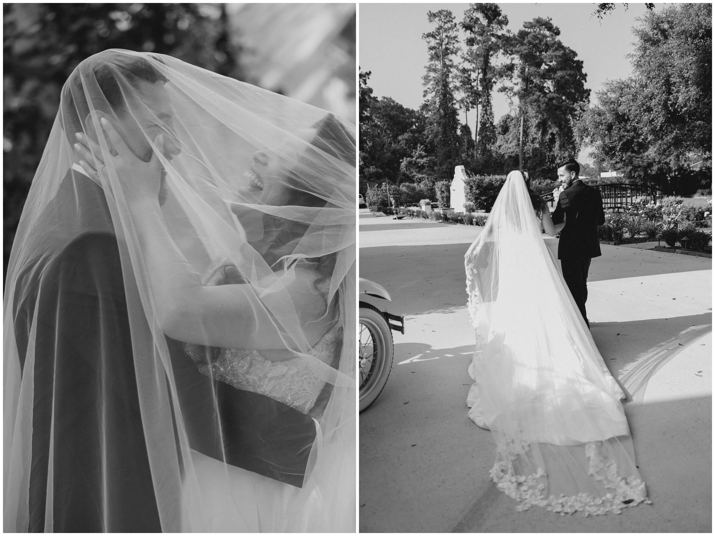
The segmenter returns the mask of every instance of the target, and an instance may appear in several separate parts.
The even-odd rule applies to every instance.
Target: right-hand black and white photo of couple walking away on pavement
[[[711,532],[712,5],[360,4],[360,532]]]

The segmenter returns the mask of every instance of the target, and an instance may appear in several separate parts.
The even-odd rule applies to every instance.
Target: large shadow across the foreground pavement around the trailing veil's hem
[[[599,323],[593,334],[612,374],[637,395],[673,359],[667,349],[688,349],[710,323],[711,313]],[[588,518],[516,512],[489,481],[491,434],[467,418],[472,353],[471,344],[395,344],[388,384],[360,414],[361,532],[711,531],[711,396],[625,405],[654,505]]]

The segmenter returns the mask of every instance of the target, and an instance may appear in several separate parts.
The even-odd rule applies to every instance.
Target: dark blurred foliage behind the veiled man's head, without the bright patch
[[[243,79],[223,4],[3,4],[4,267],[29,186],[83,59],[118,48],[169,54]]]

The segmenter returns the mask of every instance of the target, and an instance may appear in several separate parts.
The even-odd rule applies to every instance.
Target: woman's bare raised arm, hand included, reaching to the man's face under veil
[[[296,351],[315,344],[331,321],[325,313],[325,294],[315,289],[315,274],[295,268],[270,273],[256,286],[204,286],[172,240],[159,207],[159,158],[154,155],[150,162],[142,162],[133,157],[112,125],[102,125],[119,153],[112,157],[112,167],[124,184],[122,193],[164,333],[179,341],[225,348]],[[162,147],[162,140],[157,137],[157,147]],[[99,149],[93,148],[99,155]],[[87,147],[77,150],[88,160],[92,157]],[[90,173],[97,172],[87,162],[82,165]],[[271,285],[272,291],[261,290]],[[282,313],[292,325],[276,318]]]

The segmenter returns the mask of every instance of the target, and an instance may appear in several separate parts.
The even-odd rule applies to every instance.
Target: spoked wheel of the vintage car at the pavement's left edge
[[[380,312],[360,304],[358,323],[358,364],[360,365],[360,411],[378,398],[393,367],[393,334]]]

